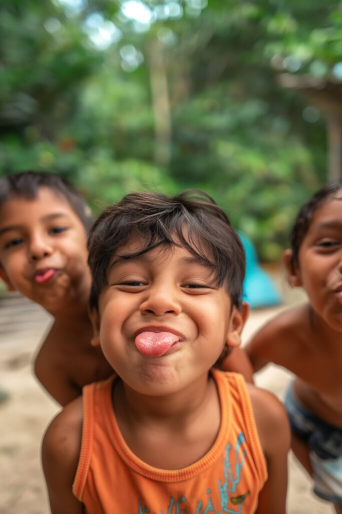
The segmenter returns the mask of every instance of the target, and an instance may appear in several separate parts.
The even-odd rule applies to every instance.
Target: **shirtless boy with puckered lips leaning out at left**
[[[0,277],[42,305],[54,323],[35,360],[35,373],[61,405],[112,368],[91,346],[87,231],[82,196],[52,173],[0,178]]]

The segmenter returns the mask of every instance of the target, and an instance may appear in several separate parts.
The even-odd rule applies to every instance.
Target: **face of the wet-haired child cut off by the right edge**
[[[314,213],[298,258],[294,285],[306,289],[318,317],[342,332],[342,190]]]

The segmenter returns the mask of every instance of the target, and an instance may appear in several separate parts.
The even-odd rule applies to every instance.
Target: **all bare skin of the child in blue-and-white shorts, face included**
[[[246,348],[254,371],[274,362],[296,376],[298,399],[315,415],[342,427],[342,195],[319,207],[291,265],[284,253],[289,282],[303,286],[310,303],[270,321]],[[292,449],[312,475],[309,447],[292,436]],[[341,512],[341,505],[334,505]]]

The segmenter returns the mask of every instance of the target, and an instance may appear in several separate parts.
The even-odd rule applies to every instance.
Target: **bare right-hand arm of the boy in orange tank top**
[[[267,462],[268,479],[260,491],[256,514],[285,514],[287,457],[291,445],[284,406],[268,391],[249,386],[261,447]]]

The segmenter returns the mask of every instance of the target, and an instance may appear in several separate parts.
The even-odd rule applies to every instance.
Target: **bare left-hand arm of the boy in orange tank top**
[[[59,413],[42,444],[42,464],[52,514],[82,514],[83,504],[72,493],[82,439],[82,398]]]

